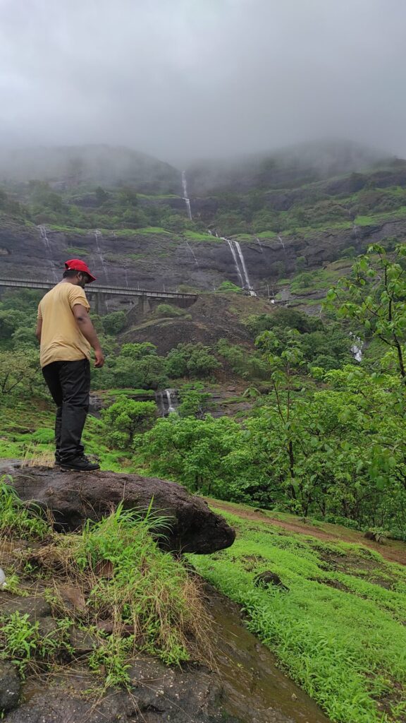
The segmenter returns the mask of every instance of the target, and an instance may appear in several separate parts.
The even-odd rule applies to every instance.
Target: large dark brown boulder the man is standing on
[[[230,547],[236,536],[207,502],[179,484],[156,477],[17,466],[2,466],[1,472],[12,476],[12,485],[22,500],[33,500],[51,510],[59,531],[78,529],[89,518],[100,520],[119,502],[126,510],[146,510],[152,502],[154,513],[170,520],[170,531],[165,531],[160,544],[172,552],[207,554]]]

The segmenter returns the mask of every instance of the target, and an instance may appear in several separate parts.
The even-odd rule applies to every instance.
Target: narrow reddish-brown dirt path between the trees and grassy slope
[[[262,512],[256,512],[255,510],[244,510],[239,505],[234,505],[233,502],[212,500],[209,497],[206,498],[206,502],[210,505],[210,507],[225,510],[225,512],[230,512],[231,514],[237,515],[244,520],[252,520],[266,525],[274,525],[281,527],[288,532],[294,532],[295,534],[311,535],[322,540],[331,540],[332,542],[350,542],[353,544],[360,544],[363,545],[363,547],[369,547],[370,549],[375,550],[375,552],[379,552],[379,554],[386,560],[389,560],[389,562],[398,562],[399,565],[406,565],[406,544],[403,542],[387,540],[385,544],[379,544],[378,542],[373,542],[373,540],[365,539],[362,532],[350,530],[347,527],[342,527],[341,525],[320,523],[322,527],[316,527],[311,522],[304,523],[299,520],[279,520],[269,516],[270,513],[264,514]]]

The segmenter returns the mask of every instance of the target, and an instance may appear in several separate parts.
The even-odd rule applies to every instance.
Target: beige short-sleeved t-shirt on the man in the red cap
[[[38,319],[42,319],[40,365],[52,361],[90,359],[90,343],[79,330],[73,315],[75,304],[89,311],[89,302],[81,286],[63,281],[48,291],[38,305]]]

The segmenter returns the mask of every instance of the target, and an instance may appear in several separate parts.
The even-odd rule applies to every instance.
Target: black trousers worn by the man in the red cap
[[[90,361],[53,361],[43,367],[43,376],[56,403],[56,457],[72,461],[83,454],[82,438],[89,411]]]

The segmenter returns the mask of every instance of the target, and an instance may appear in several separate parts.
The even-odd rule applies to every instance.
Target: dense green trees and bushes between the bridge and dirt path
[[[91,424],[100,445],[133,453],[133,466],[193,492],[404,536],[403,247],[396,254],[375,246],[359,257],[353,275],[329,293],[324,320],[289,308],[246,317],[251,348],[224,339],[212,349],[181,343],[160,356],[151,343],[117,348],[106,335],[111,354],[95,375],[98,388],[182,389],[231,369],[249,385],[251,401],[237,421],[213,418],[203,390],[187,386],[180,413],[166,418],[156,418],[152,401],[113,399]],[[12,309],[13,299],[17,307],[31,301],[10,294],[2,302],[11,313],[1,328],[0,393],[10,406],[17,392],[44,395],[31,340],[14,338],[21,315],[33,322],[33,312]],[[116,312],[95,322],[105,333],[125,319]],[[359,334],[381,345],[363,364],[351,354]]]

